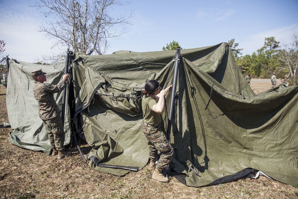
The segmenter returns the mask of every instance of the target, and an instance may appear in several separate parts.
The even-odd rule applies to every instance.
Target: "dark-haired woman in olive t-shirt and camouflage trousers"
[[[167,95],[168,91],[172,91],[172,88],[173,85],[161,90],[162,87],[159,86],[158,81],[149,80],[145,84],[145,90],[142,91],[142,109],[144,112],[142,130],[148,140],[150,166],[154,167],[157,151],[162,154],[151,178],[161,182],[169,181],[162,175],[162,171],[170,164],[173,157],[173,147],[160,128],[160,114],[164,109],[164,96]]]

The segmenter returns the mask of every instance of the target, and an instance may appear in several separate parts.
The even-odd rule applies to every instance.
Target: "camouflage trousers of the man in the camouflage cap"
[[[56,148],[58,151],[64,149],[64,140],[65,140],[65,133],[63,129],[63,123],[60,116],[42,120],[44,126],[46,127],[46,132],[48,133],[48,137],[52,148]]]

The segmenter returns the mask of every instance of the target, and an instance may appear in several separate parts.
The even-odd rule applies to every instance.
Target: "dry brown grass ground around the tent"
[[[263,87],[267,90],[268,85],[261,83],[252,81],[256,93],[263,92]],[[188,187],[175,178],[169,183],[149,179],[152,169],[148,165],[118,177],[92,170],[77,149],[71,157],[58,160],[19,148],[8,142],[11,129],[3,128],[8,121],[5,97],[6,88],[1,85],[0,198],[298,198],[298,188],[266,177]],[[83,146],[82,151],[88,153],[89,147]]]

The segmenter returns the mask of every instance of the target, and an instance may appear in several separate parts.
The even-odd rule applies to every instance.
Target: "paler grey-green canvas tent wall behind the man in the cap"
[[[42,68],[47,73],[46,83],[58,84],[64,74],[65,62],[45,66],[10,60],[9,65],[6,106],[10,125],[13,129],[9,142],[25,149],[43,151],[50,155],[52,146],[46,128],[38,115],[38,103],[33,95],[34,80],[31,77],[31,72]],[[54,98],[61,109],[62,92],[55,93]],[[64,121],[64,132],[66,132],[64,145],[67,145],[70,142],[67,115]]]

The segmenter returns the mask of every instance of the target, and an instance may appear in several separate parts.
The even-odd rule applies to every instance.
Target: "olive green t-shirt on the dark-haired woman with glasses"
[[[150,125],[158,124],[162,121],[160,117],[160,113],[154,112],[152,110],[152,107],[155,104],[157,104],[156,99],[153,99],[150,96],[143,95],[142,109],[143,109],[144,121]]]

